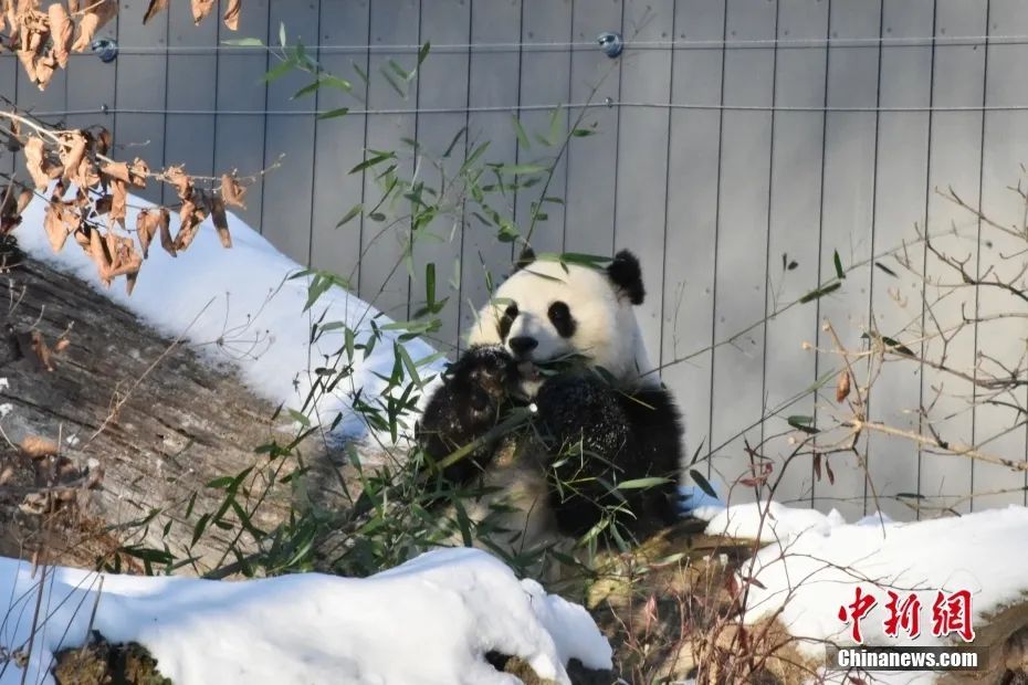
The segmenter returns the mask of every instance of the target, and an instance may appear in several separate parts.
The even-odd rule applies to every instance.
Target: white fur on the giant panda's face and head
[[[500,319],[511,302],[517,304],[518,314],[504,339]],[[575,317],[575,334],[569,338],[549,322],[547,312],[554,302],[566,303]],[[529,352],[532,361],[577,352],[629,388],[660,383],[629,295],[615,288],[602,271],[536,260],[515,272],[479,312],[468,342],[504,345],[510,350],[508,341],[517,336],[538,341]]]

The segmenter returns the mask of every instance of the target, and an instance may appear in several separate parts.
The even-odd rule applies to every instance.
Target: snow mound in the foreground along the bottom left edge
[[[102,580],[101,580],[102,579]],[[4,650],[31,631],[39,575],[0,559]],[[28,683],[52,683],[52,655],[84,643],[91,626],[111,642],[137,641],[176,685],[193,683],[514,684],[485,660],[516,655],[568,683],[579,658],[610,668],[611,650],[581,607],[518,581],[475,549],[427,552],[366,579],[319,573],[240,582],[98,575],[56,569],[43,590],[42,628]],[[8,653],[8,652],[4,652]],[[22,682],[9,666],[0,685]]]

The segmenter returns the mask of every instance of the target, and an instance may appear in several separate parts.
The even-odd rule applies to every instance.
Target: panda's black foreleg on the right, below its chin
[[[558,376],[539,389],[536,405],[562,533],[580,536],[605,516],[636,537],[673,523],[682,428],[670,394],[627,396],[594,376]],[[669,482],[618,488],[646,477]]]

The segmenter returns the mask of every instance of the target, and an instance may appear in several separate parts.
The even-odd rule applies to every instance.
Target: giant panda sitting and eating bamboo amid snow
[[[526,250],[428,399],[427,461],[482,486],[471,516],[500,512],[508,549],[594,530],[641,539],[678,518],[682,419],[648,360],[633,312],[644,296],[627,250],[602,270]],[[497,433],[514,412],[528,419]],[[618,489],[641,478],[664,481]]]

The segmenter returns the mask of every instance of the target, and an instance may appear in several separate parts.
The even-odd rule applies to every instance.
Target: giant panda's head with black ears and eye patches
[[[636,384],[650,370],[633,312],[644,296],[639,260],[627,250],[602,270],[526,251],[479,313],[469,341],[503,345],[518,362],[577,356]]]

